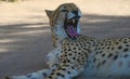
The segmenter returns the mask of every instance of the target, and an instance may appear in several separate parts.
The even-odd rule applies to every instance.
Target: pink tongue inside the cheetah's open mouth
[[[74,26],[69,25],[69,26],[67,26],[67,29],[68,29],[68,35],[70,36],[70,38],[78,37],[77,29]]]

